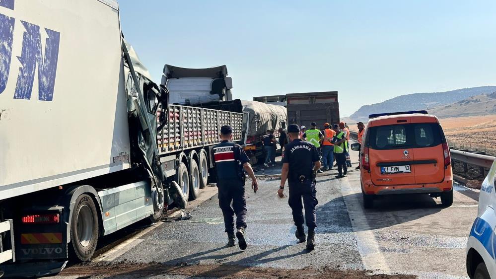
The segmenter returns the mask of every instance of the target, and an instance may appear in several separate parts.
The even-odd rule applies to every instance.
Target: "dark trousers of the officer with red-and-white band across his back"
[[[217,182],[217,188],[219,207],[224,215],[225,232],[234,232],[234,214],[236,214],[236,228],[246,228],[245,183],[232,180]]]

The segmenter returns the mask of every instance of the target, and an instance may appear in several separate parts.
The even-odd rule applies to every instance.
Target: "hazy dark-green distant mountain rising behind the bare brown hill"
[[[350,118],[358,121],[368,121],[368,115],[373,113],[424,110],[449,105],[477,95],[491,94],[495,91],[496,86],[481,86],[447,92],[407,94],[394,97],[382,103],[362,106]]]

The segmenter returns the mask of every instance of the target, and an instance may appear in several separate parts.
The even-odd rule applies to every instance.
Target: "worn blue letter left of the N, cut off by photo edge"
[[[12,2],[13,3],[13,2]],[[3,2],[0,0],[0,5]],[[12,56],[12,37],[14,34],[13,17],[0,14],[0,94],[5,90]]]

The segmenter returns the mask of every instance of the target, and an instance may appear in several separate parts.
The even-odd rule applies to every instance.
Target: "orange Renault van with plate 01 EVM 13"
[[[360,150],[364,208],[380,195],[429,194],[453,204],[451,158],[439,119],[427,111],[369,115]]]

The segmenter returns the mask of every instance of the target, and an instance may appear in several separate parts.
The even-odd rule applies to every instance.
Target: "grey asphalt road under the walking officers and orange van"
[[[354,166],[356,153],[352,152]],[[334,178],[336,170],[319,174],[316,249],[308,253],[305,244],[294,238],[287,198],[276,196],[280,168],[256,172],[260,182],[256,194],[246,183],[245,251],[225,246],[216,188],[209,187],[200,201],[189,205],[191,219],[147,228],[100,254],[92,264],[68,267],[58,278],[236,278],[239,272],[253,269],[261,269],[258,278],[308,269],[467,278],[465,245],[477,214],[477,190],[456,185],[449,208],[441,207],[439,199],[420,195],[384,197],[374,209],[363,209],[357,170],[344,179]]]

